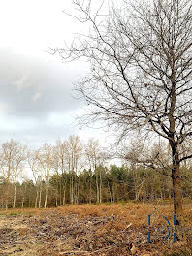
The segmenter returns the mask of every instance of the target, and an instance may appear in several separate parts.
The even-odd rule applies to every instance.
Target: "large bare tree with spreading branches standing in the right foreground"
[[[55,49],[63,59],[85,57],[91,72],[78,86],[89,105],[86,121],[104,120],[120,138],[131,131],[168,140],[176,225],[182,219],[180,148],[192,136],[192,3],[190,0],[123,1],[108,16],[93,13],[91,1],[75,0],[80,22],[92,31],[70,48]],[[101,14],[101,15],[100,15]]]

